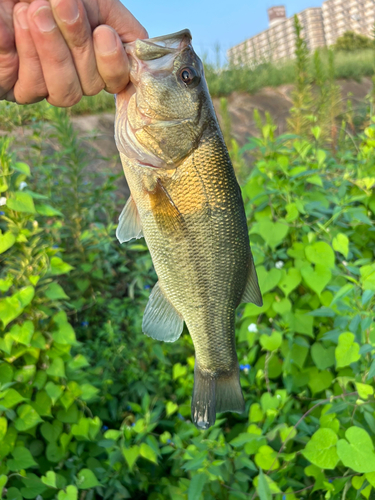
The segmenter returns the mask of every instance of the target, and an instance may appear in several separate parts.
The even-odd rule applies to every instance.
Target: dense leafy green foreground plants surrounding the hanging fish
[[[64,110],[32,117],[27,164],[0,139],[0,498],[373,497],[372,96],[362,132],[350,108],[337,127],[333,58],[310,94],[300,49],[293,133],[256,113],[240,149],[221,101],[264,305],[236,320],[246,411],[207,431],[187,332],[141,333],[156,276],[143,240],[116,241],[118,178],[90,173]]]

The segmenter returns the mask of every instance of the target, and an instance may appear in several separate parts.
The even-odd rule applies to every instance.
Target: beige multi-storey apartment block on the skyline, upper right
[[[345,31],[372,36],[375,0],[326,0],[322,7],[306,9],[297,16],[307,48],[314,51],[334,44]],[[277,6],[268,9],[268,19],[267,30],[228,50],[230,62],[254,67],[294,57],[294,18],[287,18],[285,7]]]

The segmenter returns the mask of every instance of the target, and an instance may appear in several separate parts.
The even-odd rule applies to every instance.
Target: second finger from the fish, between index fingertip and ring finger
[[[69,47],[84,95],[104,88],[96,67],[91,27],[81,0],[50,0],[53,15]]]

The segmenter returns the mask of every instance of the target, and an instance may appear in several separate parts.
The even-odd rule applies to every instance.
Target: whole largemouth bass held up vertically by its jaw
[[[115,140],[130,197],[120,243],[144,237],[158,282],[143,332],[195,349],[192,421],[245,409],[235,311],[262,305],[241,190],[189,30],[124,44],[131,84],[116,96]]]

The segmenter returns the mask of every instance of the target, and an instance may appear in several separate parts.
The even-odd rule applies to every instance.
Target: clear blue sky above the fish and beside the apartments
[[[320,7],[323,0],[121,0],[147,29],[150,37],[189,28],[196,52],[215,58],[219,44],[221,58],[226,50],[268,27],[267,9],[285,5],[288,17],[308,7]],[[224,62],[223,60],[221,61]]]

